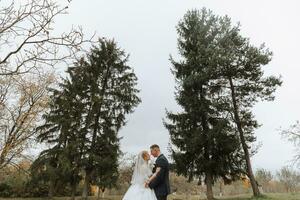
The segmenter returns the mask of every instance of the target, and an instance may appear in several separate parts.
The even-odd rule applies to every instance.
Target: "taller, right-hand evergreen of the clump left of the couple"
[[[80,90],[77,98],[84,103],[84,198],[90,183],[103,177],[104,171],[99,169],[106,169],[107,161],[112,166],[111,174],[117,173],[118,132],[125,125],[126,114],[140,102],[137,77],[127,61],[128,56],[114,41],[99,39],[99,45],[69,69],[75,77],[73,86]]]

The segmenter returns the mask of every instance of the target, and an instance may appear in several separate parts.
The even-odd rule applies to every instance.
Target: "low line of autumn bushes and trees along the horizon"
[[[130,162],[128,162],[128,160]],[[39,184],[32,181],[31,175],[25,173],[30,169],[31,162],[21,161],[20,168],[7,168],[0,173],[0,196],[1,197],[47,197],[48,183],[40,181]],[[132,176],[132,165],[134,157],[122,156],[119,162],[116,184],[113,188],[91,187],[90,194],[100,198],[109,196],[122,196],[130,186]],[[256,169],[255,178],[259,184],[259,189],[263,194],[268,193],[298,193],[300,191],[299,171],[291,167],[283,167],[276,172],[267,169]],[[171,191],[173,195],[178,195],[189,199],[197,195],[205,197],[205,185],[199,185],[197,180],[191,182],[184,176],[178,176],[175,172],[170,174]],[[68,196],[71,188],[68,184],[59,184],[56,186],[55,196]],[[81,181],[77,187],[76,194],[81,195],[84,187]],[[213,191],[216,196],[231,196],[251,193],[251,184],[248,179],[237,180],[231,184],[224,184],[222,179],[215,182]]]

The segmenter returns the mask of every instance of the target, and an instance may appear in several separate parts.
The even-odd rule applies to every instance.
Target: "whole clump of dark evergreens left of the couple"
[[[41,142],[52,147],[42,152],[33,168],[45,172],[55,185],[90,184],[112,187],[118,177],[118,132],[126,114],[140,99],[137,78],[127,65],[128,56],[111,40],[99,39],[86,57],[68,68],[69,77],[53,89],[50,111],[39,127]],[[51,189],[50,189],[51,190]]]

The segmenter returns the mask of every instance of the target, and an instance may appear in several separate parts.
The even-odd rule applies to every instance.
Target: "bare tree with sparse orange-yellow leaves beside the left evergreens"
[[[36,126],[47,109],[52,73],[38,77],[14,75],[0,84],[0,169],[24,158],[24,150],[34,144]]]

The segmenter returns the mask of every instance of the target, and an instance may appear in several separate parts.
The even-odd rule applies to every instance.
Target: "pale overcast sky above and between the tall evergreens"
[[[174,78],[169,55],[177,55],[175,26],[189,9],[207,7],[240,22],[253,44],[263,42],[274,52],[267,74],[282,75],[283,86],[274,102],[255,107],[256,131],[262,143],[253,160],[255,168],[276,170],[289,164],[294,151],[277,129],[300,119],[300,1],[298,0],[73,0],[69,15],[57,20],[59,30],[81,25],[91,35],[114,38],[130,54],[138,76],[142,103],[121,131],[121,148],[136,154],[159,144],[168,154],[169,135],[163,127],[165,109],[176,110]]]

